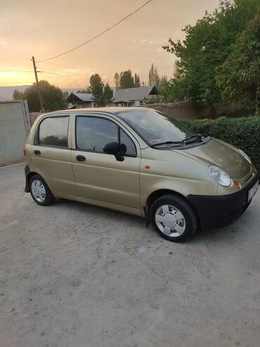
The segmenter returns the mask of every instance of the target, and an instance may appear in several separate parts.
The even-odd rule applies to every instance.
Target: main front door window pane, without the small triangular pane
[[[76,139],[77,149],[103,152],[105,144],[118,141],[118,127],[103,118],[77,116]]]

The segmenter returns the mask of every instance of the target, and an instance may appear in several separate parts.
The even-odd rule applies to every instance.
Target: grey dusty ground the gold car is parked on
[[[259,346],[260,189],[174,244],[133,215],[37,206],[23,168],[0,168],[1,347]]]

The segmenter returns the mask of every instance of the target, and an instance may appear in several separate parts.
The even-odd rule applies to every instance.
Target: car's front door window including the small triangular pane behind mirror
[[[76,120],[77,149],[104,153],[109,142],[120,143],[120,154],[136,156],[136,146],[126,133],[112,121],[97,117],[80,117]],[[120,137],[119,137],[120,135]]]

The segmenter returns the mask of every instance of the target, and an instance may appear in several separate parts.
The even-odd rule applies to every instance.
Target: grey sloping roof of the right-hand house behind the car
[[[155,86],[143,86],[135,88],[118,89],[114,94],[114,102],[134,101],[147,99],[148,95],[157,95],[158,91]]]

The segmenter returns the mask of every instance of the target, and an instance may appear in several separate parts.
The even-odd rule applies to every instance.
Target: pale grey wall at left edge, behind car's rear
[[[30,131],[27,101],[0,102],[0,165],[23,160],[22,147]]]

